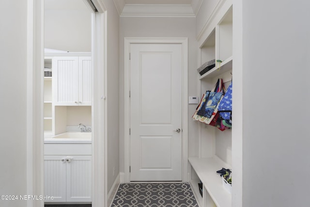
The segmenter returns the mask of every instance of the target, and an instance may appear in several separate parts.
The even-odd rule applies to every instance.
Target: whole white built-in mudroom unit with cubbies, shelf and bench
[[[198,74],[200,96],[212,90],[218,78],[223,79],[227,89],[233,73],[233,5],[226,1],[217,11],[216,17],[207,28],[205,36],[199,39],[200,64],[215,59],[214,68],[200,76]],[[218,63],[220,60],[221,63]],[[232,169],[232,131],[220,131],[216,127],[197,122],[199,125],[199,145],[197,157],[189,157],[189,182],[200,207],[231,207],[232,195],[222,184],[217,171]],[[233,169],[232,169],[233,171]],[[202,196],[198,183],[202,182]]]

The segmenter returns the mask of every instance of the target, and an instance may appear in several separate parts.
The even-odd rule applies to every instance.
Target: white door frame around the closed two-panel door
[[[188,39],[187,38],[124,38],[124,182],[130,182],[130,45],[181,44],[182,45],[182,181],[188,181]]]

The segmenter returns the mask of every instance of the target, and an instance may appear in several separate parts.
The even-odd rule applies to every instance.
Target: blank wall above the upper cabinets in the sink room
[[[90,52],[91,13],[83,0],[45,0],[45,48]]]

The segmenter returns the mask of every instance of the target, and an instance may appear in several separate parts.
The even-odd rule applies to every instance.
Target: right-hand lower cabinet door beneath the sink
[[[67,158],[67,202],[91,202],[92,156]]]

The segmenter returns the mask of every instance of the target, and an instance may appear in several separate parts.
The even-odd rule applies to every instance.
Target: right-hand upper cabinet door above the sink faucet
[[[91,57],[78,58],[78,104],[92,105],[93,67]]]

